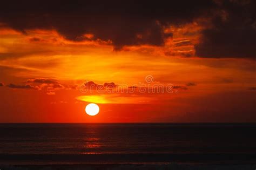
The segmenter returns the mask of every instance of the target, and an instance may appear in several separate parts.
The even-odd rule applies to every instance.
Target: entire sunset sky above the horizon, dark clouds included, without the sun
[[[2,2],[0,122],[255,123],[255,6]]]

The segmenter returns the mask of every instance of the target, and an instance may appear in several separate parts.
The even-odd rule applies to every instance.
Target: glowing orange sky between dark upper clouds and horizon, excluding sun
[[[217,15],[224,24],[232,19],[232,11]],[[156,20],[163,42],[154,44],[151,29],[135,33],[139,43],[120,43],[114,32],[100,38],[98,30],[73,40],[57,26],[19,29],[0,17],[0,122],[256,122],[255,55],[247,57],[246,42],[233,47],[237,55],[225,39],[230,53],[214,46],[217,38],[205,30],[218,25],[210,18]],[[86,85],[94,87],[84,92]],[[163,92],[152,92],[153,86]],[[85,114],[88,103],[99,105],[95,117]]]

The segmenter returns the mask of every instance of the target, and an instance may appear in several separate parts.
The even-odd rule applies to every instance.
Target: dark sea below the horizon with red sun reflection
[[[0,124],[0,161],[255,162],[255,132],[256,124]]]

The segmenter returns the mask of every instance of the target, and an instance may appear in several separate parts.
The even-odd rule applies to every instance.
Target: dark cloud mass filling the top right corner
[[[212,27],[203,30],[196,55],[208,58],[256,57],[256,1],[220,1]]]

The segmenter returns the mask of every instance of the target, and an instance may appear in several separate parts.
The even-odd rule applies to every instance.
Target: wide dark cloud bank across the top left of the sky
[[[66,39],[111,40],[116,50],[124,45],[163,45],[163,26],[193,21],[214,8],[212,1],[4,1],[0,22],[26,29],[56,29]],[[204,15],[205,16],[205,15]],[[38,41],[34,38],[31,40]]]

